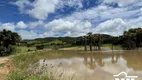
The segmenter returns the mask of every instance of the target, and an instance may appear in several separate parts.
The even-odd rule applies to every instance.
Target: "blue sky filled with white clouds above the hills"
[[[0,0],[0,30],[22,39],[122,35],[142,28],[142,0]]]

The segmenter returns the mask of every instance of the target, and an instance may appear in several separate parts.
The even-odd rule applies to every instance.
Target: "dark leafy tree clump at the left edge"
[[[10,30],[0,31],[0,56],[8,55],[12,52],[12,45],[21,41],[21,37]]]

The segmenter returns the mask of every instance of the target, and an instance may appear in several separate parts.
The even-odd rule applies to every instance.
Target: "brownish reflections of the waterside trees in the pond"
[[[110,55],[110,54],[109,54]],[[84,60],[83,63],[90,69],[95,69],[96,66],[103,67],[105,65],[105,62],[103,61],[103,54],[96,55],[94,53],[84,53]],[[114,54],[111,55],[111,62],[112,64],[115,64],[118,62],[120,58],[120,54]]]

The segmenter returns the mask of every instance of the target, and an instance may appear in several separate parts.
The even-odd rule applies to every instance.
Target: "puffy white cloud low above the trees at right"
[[[95,33],[109,34],[113,36],[122,35],[127,29],[125,21],[120,18],[108,20],[99,24],[95,29]]]

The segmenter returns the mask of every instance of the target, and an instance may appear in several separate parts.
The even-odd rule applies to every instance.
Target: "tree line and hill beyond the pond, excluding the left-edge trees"
[[[120,45],[123,49],[136,49],[142,47],[142,28],[129,29],[121,36],[93,34],[89,32],[85,36],[79,37],[47,37],[25,41],[28,42],[30,46],[41,44],[42,48],[44,46],[51,46],[52,43],[54,46],[60,44],[62,47],[84,46],[85,51],[88,46],[90,51],[101,50],[102,44],[111,44],[112,49],[114,45]],[[60,43],[57,43],[57,41]]]

